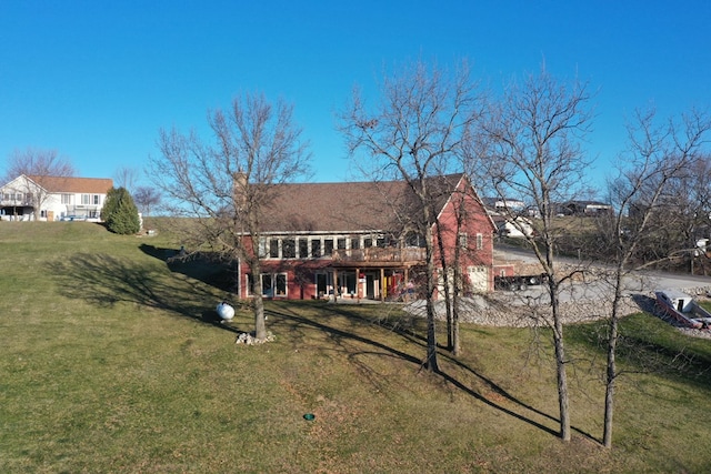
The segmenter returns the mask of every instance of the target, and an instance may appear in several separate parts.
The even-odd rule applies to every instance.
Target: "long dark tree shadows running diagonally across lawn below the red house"
[[[358,323],[358,325],[360,325],[361,327],[364,326],[373,326],[374,324],[371,321],[368,321],[367,319],[363,319],[361,315],[348,311],[346,309],[347,306],[340,306],[338,310],[336,310],[334,312],[337,312],[338,314],[349,319],[352,322]],[[329,307],[329,310],[332,310],[331,307]],[[301,334],[303,337],[306,337],[306,335],[303,334],[303,330],[304,329],[311,329],[311,330],[317,330],[320,332],[326,333],[331,341],[333,341],[334,344],[337,345],[341,345],[343,346],[343,342],[344,341],[356,341],[359,342],[361,344],[368,345],[373,347],[374,350],[372,351],[359,351],[358,353],[354,353],[352,351],[351,347],[344,347],[343,350],[344,352],[349,353],[349,356],[351,359],[351,361],[353,360],[353,357],[358,356],[358,355],[362,355],[362,354],[369,354],[369,355],[380,355],[380,356],[388,356],[388,357],[397,357],[401,361],[404,361],[407,363],[410,363],[412,365],[415,365],[419,367],[419,370],[422,369],[422,359],[409,354],[404,351],[391,347],[388,344],[383,344],[381,342],[378,342],[373,339],[370,337],[364,337],[361,335],[357,334],[358,329],[353,327],[353,331],[343,331],[341,329],[338,327],[333,327],[331,325],[328,325],[321,321],[316,321],[314,319],[309,319],[307,316],[303,316],[294,311],[290,311],[288,312],[288,310],[286,307],[280,307],[279,311],[277,310],[267,310],[266,313],[268,313],[270,316],[273,317],[274,322],[271,323],[271,325],[279,325],[279,324],[284,324],[286,327],[290,331],[290,336],[292,334]],[[400,333],[398,331],[395,331],[399,335],[405,337],[409,342],[414,343],[418,347],[420,347],[422,350],[422,352],[424,352],[425,345],[424,345],[424,341],[422,341],[419,337],[413,337],[412,334],[405,334],[405,333]],[[299,337],[297,335],[297,337]],[[472,375],[474,375],[479,381],[483,382],[484,385],[487,386],[487,389],[495,394],[495,397],[492,396],[488,396],[485,394],[482,394],[480,391],[478,391],[477,389],[472,387],[472,386],[468,386],[467,383],[461,382],[459,380],[457,380],[457,377],[454,377],[453,375],[450,375],[449,373],[447,373],[444,370],[442,370],[440,367],[440,371],[437,372],[437,374],[439,376],[441,376],[444,381],[447,381],[448,383],[450,383],[452,386],[457,387],[458,390],[462,391],[463,393],[468,394],[469,396],[473,397],[474,400],[487,404],[488,406],[498,410],[509,416],[512,416],[523,423],[527,423],[535,428],[539,428],[545,433],[549,433],[553,436],[559,436],[560,433],[555,430],[552,430],[548,426],[545,426],[542,423],[537,422],[535,420],[533,420],[533,416],[538,416],[538,417],[543,417],[547,420],[550,420],[552,422],[557,422],[559,423],[559,418],[551,416],[547,413],[543,413],[540,410],[534,409],[533,406],[523,403],[522,401],[520,401],[519,399],[517,399],[515,396],[513,396],[512,394],[510,394],[509,392],[507,392],[505,390],[503,390],[500,385],[498,385],[495,382],[493,382],[491,379],[485,377],[484,375],[480,374],[479,372],[477,372],[475,370],[473,370],[472,367],[469,367],[465,364],[462,364],[459,361],[453,360],[452,357],[449,357],[442,353],[440,353],[440,356],[443,356],[448,360],[448,362],[453,363],[454,365],[459,366],[460,369],[465,370],[467,372],[471,373]],[[371,382],[373,382],[371,380]],[[374,382],[377,383],[377,381]],[[495,400],[498,399],[498,400]],[[504,401],[507,403],[510,403],[511,406],[504,406],[503,403],[501,403],[502,401]],[[530,413],[531,415],[527,415],[525,413]],[[578,433],[582,434],[583,436],[587,436],[591,440],[593,440],[593,437],[588,434],[582,432],[581,430],[575,430]]]

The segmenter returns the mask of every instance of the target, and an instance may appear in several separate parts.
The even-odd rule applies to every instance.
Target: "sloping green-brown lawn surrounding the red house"
[[[421,370],[394,305],[268,303],[214,321],[221,274],[169,266],[169,235],[0,222],[0,472],[519,473],[711,468],[711,341],[623,321],[614,447],[602,437],[601,324],[571,326],[573,440],[557,437],[545,334],[462,327]],[[540,334],[539,334],[540,335]],[[440,337],[444,341],[444,337]],[[303,415],[312,413],[313,421]]]

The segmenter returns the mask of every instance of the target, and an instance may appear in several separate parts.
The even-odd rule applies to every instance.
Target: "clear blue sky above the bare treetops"
[[[711,2],[2,0],[0,171],[27,147],[57,149],[81,177],[142,170],[160,128],[203,129],[209,109],[262,91],[294,104],[313,179],[342,181],[334,110],[418,57],[465,58],[493,85],[543,60],[588,81],[600,180],[635,108],[711,107]]]

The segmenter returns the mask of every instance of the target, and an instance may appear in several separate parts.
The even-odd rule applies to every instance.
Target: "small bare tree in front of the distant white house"
[[[49,198],[52,190],[48,189],[51,183],[57,183],[62,178],[74,175],[74,168],[71,161],[61,157],[57,150],[41,150],[27,148],[14,150],[8,160],[7,181],[24,175],[29,178],[21,184],[19,190],[29,199],[29,204],[33,208],[34,220],[40,219],[41,208]],[[51,183],[50,183],[51,179]]]

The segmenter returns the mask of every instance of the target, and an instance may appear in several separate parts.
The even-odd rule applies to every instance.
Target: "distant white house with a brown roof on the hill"
[[[106,178],[20,175],[0,188],[0,220],[98,222],[113,181]]]

